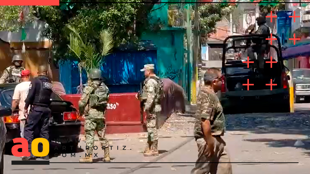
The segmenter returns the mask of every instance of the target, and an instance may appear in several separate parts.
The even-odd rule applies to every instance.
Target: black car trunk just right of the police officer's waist
[[[52,120],[50,120],[50,124],[61,124],[64,122],[64,112],[76,111],[71,102],[57,100],[52,100],[50,109],[52,111]]]

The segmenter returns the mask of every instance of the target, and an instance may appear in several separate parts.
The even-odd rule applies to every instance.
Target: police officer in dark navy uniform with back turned
[[[31,105],[31,111],[27,117],[24,127],[24,137],[28,141],[28,149],[31,152],[31,143],[35,138],[48,137],[48,124],[51,115],[50,104],[53,85],[50,78],[47,76],[47,66],[42,65],[38,68],[38,77],[31,81],[29,93],[25,100],[25,111]],[[42,144],[39,143],[39,151],[42,151]],[[32,160],[36,157],[31,153],[29,157],[24,156],[22,160]],[[49,156],[42,157],[49,159]]]

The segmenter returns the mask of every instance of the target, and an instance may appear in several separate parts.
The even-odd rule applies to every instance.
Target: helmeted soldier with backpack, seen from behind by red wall
[[[109,90],[108,87],[100,81],[101,71],[99,69],[92,69],[89,73],[90,81],[87,83],[87,86],[83,90],[82,97],[79,101],[79,110],[81,114],[85,114],[85,138],[86,146],[89,146],[89,149],[86,149],[87,153],[85,157],[80,159],[80,162],[92,162],[92,154],[95,141],[95,130],[101,144],[101,147],[98,149],[104,150],[104,162],[110,162],[109,154],[109,142],[105,137],[105,117],[104,112],[106,110]]]

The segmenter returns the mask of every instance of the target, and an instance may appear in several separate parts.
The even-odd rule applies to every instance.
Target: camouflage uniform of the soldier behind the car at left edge
[[[7,67],[0,78],[0,84],[19,83],[21,71],[24,69],[24,67],[16,68],[14,65]]]

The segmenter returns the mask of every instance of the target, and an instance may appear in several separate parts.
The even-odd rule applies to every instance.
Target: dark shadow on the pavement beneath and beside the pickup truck
[[[294,113],[248,113],[225,115],[226,131],[247,131],[253,134],[304,135],[302,146],[294,146],[300,139],[244,139],[249,142],[264,142],[271,147],[296,147],[310,155],[310,112]],[[297,136],[296,136],[297,137]]]

